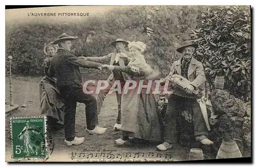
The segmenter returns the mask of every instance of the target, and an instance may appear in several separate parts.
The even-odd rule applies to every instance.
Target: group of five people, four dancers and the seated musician
[[[86,131],[97,135],[106,131],[106,128],[98,126],[98,114],[110,88],[101,90],[96,96],[84,93],[79,67],[108,68],[112,73],[106,82],[111,87],[118,80],[121,89],[127,81],[133,80],[138,83],[143,80],[144,84],[147,84],[148,80],[158,78],[158,74],[144,59],[146,44],[143,42],[130,42],[118,38],[111,43],[116,48],[113,53],[102,57],[78,57],[71,53],[72,40],[75,39],[77,37],[63,33],[54,42],[45,44],[44,52],[48,57],[44,61],[45,76],[40,81],[41,114],[48,116],[50,126],[64,127],[67,146],[80,145],[84,141],[84,137],[75,136],[77,102],[86,105]],[[197,44],[192,41],[184,41],[177,49],[177,52],[182,53],[183,56],[173,63],[170,74],[160,79],[160,82],[172,81],[170,78],[173,75],[181,75],[191,82],[186,88],[187,93],[195,89],[203,92],[205,82],[203,66],[193,57],[196,47]],[[207,138],[208,130],[198,99],[169,96],[166,124],[163,125],[152,90],[147,92],[142,89],[141,93],[116,91],[116,97],[118,113],[114,130],[122,131],[121,137],[115,140],[116,145],[124,145],[134,138],[139,138],[159,141],[161,144],[157,149],[160,151],[172,148],[177,142],[176,113],[181,101],[191,103],[196,139],[204,145],[213,144]]]

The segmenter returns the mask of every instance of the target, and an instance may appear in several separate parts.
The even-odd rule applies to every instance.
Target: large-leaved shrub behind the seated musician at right
[[[251,85],[250,8],[211,7],[202,12],[201,23],[191,34],[199,47],[210,85],[216,76],[225,76],[225,89],[248,101]]]

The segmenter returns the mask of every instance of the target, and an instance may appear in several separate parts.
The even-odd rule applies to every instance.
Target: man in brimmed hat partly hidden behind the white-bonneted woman
[[[106,56],[102,56],[102,57],[81,57],[81,58],[87,59],[87,60],[93,61],[93,62],[102,63],[102,64],[110,64],[110,65],[118,65],[118,66],[127,65],[129,62],[129,59],[130,59],[129,58],[130,53],[125,51],[125,47],[127,47],[128,42],[122,38],[117,38],[111,44],[114,47],[116,47],[116,52],[110,53],[110,54],[108,54]],[[123,85],[125,83],[123,76],[124,76],[124,74],[122,72],[112,71],[112,74],[107,79],[107,81],[109,83],[109,87],[104,90],[101,90],[96,95],[98,114],[100,112],[104,98],[106,97],[106,94],[110,91],[110,88],[112,87],[113,83],[116,80],[119,80],[121,83],[121,89],[123,88]],[[114,126],[114,130],[120,130],[120,128],[121,128],[121,95],[122,94],[119,94],[118,92],[116,92],[117,104],[118,104],[118,114],[117,114],[117,119],[116,119],[116,124]]]

